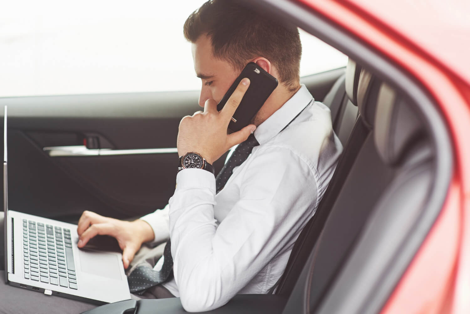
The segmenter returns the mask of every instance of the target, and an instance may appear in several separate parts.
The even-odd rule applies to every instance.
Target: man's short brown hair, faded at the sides
[[[292,88],[299,80],[302,45],[297,27],[287,27],[232,0],[209,0],[188,17],[184,36],[195,43],[211,38],[213,55],[242,70],[257,56],[279,71],[279,80]]]

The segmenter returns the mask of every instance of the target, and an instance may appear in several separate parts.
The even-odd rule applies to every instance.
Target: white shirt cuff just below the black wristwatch
[[[215,194],[215,177],[204,169],[183,169],[176,175],[176,190],[210,189]]]

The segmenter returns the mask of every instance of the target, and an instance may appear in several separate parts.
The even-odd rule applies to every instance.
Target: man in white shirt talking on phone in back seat
[[[195,152],[211,164],[237,144],[243,149],[230,150],[228,170],[217,180],[205,169],[180,170],[169,204],[136,221],[84,212],[78,246],[97,234],[114,236],[128,268],[143,243],[171,239],[174,278],[159,285],[162,295],[155,297],[180,297],[186,310],[197,312],[222,306],[235,294],[274,287],[328,186],[341,144],[329,109],[299,83],[296,28],[212,0],[188,17],[184,34],[202,81],[204,111],[181,120],[179,155]],[[249,62],[279,85],[250,125],[227,134],[250,81],[242,80],[220,112],[217,103]],[[156,269],[164,265],[161,259]]]

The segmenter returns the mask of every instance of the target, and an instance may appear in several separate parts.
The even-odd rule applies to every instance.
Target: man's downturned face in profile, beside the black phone
[[[212,56],[212,43],[205,35],[193,44],[192,52],[196,75],[202,81],[199,105],[204,107],[207,99],[219,103],[240,73],[235,72],[228,62]]]

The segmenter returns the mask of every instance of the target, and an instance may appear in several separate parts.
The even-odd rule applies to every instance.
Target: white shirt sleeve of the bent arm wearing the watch
[[[226,304],[295,241],[313,215],[315,171],[287,148],[256,153],[239,169],[240,199],[219,226],[214,176],[202,169],[177,175],[169,215],[173,272],[189,312]]]

